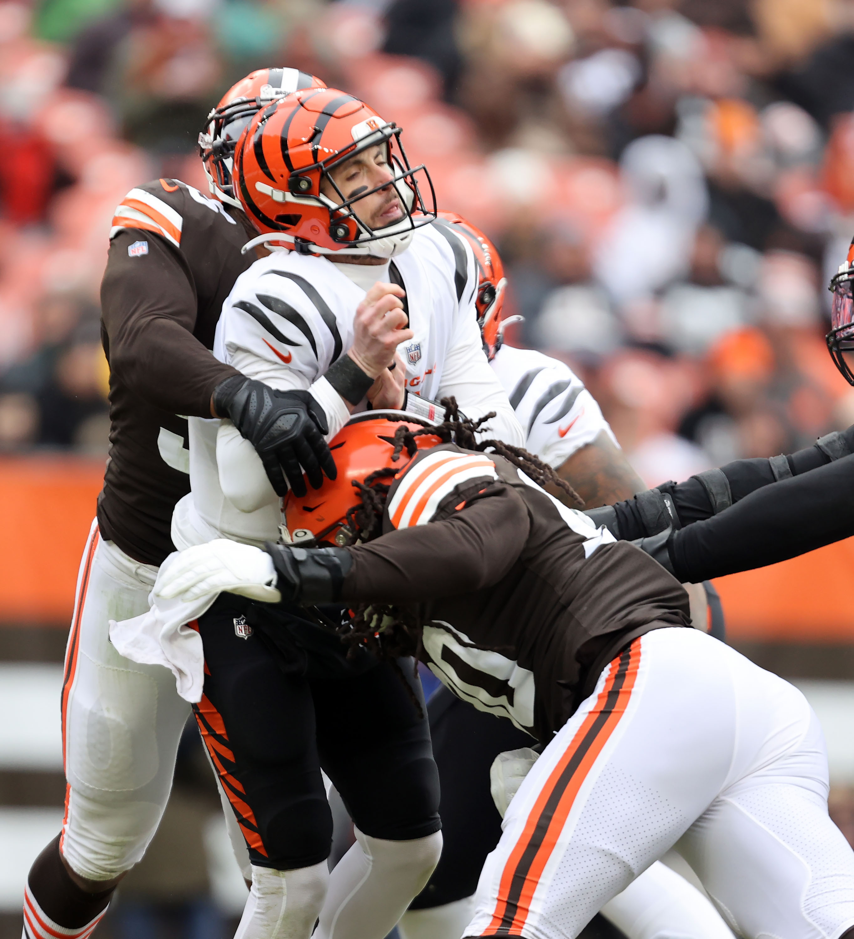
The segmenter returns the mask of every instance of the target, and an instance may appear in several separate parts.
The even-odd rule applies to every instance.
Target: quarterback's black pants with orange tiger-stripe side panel
[[[206,675],[194,712],[253,865],[295,870],[328,857],[321,767],[364,834],[404,841],[439,830],[411,659],[400,665],[424,717],[391,665],[347,660],[340,639],[297,610],[223,593],[198,625]]]

